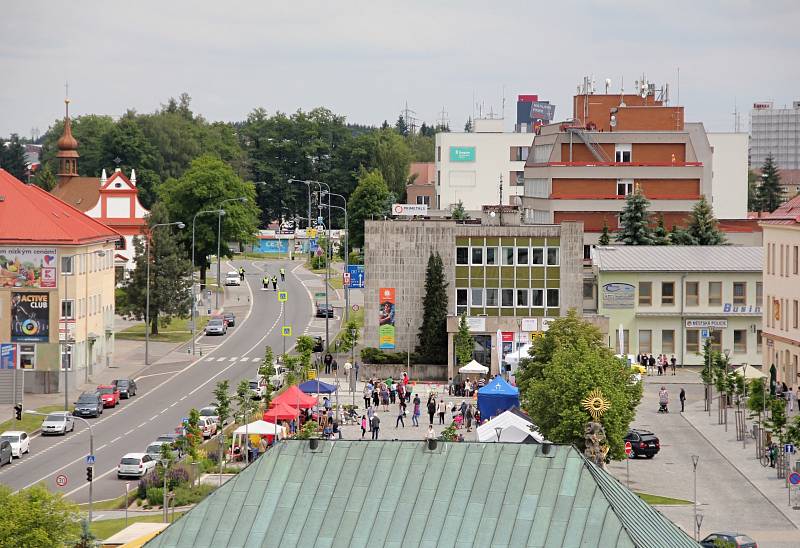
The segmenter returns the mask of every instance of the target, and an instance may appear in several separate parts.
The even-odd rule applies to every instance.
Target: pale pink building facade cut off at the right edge
[[[800,196],[761,223],[764,231],[765,364],[778,382],[800,386]]]

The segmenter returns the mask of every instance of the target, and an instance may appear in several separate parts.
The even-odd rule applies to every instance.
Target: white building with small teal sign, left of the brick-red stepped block
[[[525,161],[533,133],[504,131],[502,119],[478,119],[470,133],[436,134],[436,205],[459,201],[468,211],[484,205],[516,203],[525,188]]]

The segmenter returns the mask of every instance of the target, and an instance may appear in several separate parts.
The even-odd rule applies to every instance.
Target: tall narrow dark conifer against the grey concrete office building
[[[425,270],[422,325],[416,349],[425,363],[447,363],[447,286],[442,257],[438,252],[431,253]]]

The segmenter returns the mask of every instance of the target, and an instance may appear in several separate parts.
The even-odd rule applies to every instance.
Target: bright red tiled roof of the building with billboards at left
[[[0,169],[0,244],[77,245],[121,234]]]

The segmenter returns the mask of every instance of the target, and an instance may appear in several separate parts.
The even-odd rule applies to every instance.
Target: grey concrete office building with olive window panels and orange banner
[[[580,223],[506,224],[515,216],[504,217],[502,226],[496,215],[468,223],[366,221],[365,345],[414,351],[422,324],[428,257],[437,252],[448,283],[448,376],[457,369],[453,336],[460,314],[467,315],[475,336],[475,359],[496,373],[498,332],[511,351],[513,341],[527,342],[531,332],[546,328],[548,319],[571,308],[582,313]],[[394,306],[380,316],[387,297]],[[381,319],[393,324],[391,342],[379,338]]]

